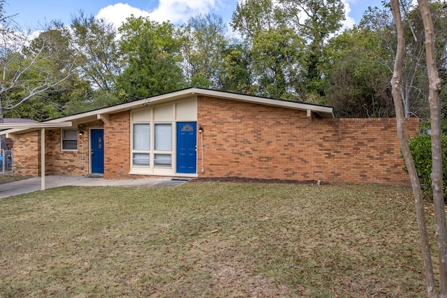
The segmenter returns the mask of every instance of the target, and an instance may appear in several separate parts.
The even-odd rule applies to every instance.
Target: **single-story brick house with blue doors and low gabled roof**
[[[38,176],[44,160],[46,174],[105,179],[409,184],[395,119],[337,119],[322,105],[189,88],[41,124],[6,131],[15,173]],[[406,133],[418,132],[407,119]]]

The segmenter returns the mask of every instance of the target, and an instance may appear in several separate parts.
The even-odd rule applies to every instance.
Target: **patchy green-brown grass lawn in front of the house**
[[[393,186],[20,195],[0,200],[0,297],[424,297],[413,209]]]

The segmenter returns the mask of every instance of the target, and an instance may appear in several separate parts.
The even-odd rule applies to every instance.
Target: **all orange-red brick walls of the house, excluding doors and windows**
[[[129,174],[130,112],[110,114],[110,124],[93,121],[78,151],[61,151],[60,130],[46,131],[48,174],[89,173],[89,128],[104,129],[104,177],[142,177]],[[402,170],[395,119],[316,119],[306,112],[198,98],[198,124],[204,128],[205,173],[200,177],[251,177],[261,179],[318,180],[335,183],[409,184]],[[417,119],[406,122],[406,132],[418,134]],[[18,135],[15,172],[40,173],[40,132]]]

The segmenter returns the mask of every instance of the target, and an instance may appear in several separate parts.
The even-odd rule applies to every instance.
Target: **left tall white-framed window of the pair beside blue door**
[[[148,123],[133,124],[133,165],[150,165],[151,131]]]

